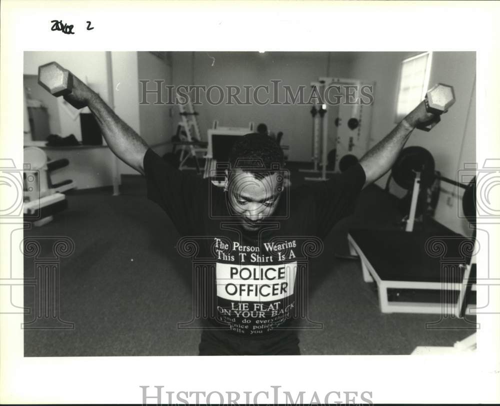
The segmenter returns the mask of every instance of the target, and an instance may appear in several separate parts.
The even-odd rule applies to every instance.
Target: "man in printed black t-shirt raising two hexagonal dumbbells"
[[[310,242],[350,214],[361,189],[390,169],[415,127],[429,130],[454,102],[451,87],[436,85],[357,164],[324,183],[295,189],[283,185],[283,153],[276,142],[248,134],[231,150],[222,190],[171,167],[57,64],[40,67],[39,81],[74,107],[88,106],[111,151],[145,176],[147,197],[181,235],[197,236],[197,255],[210,263],[197,285],[206,307],[200,355],[299,354],[298,308],[306,289],[299,265],[308,260]],[[187,255],[182,241],[178,250]]]

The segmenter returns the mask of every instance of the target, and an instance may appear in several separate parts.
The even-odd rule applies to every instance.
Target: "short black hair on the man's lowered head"
[[[240,137],[233,144],[229,164],[231,169],[241,168],[260,178],[281,169],[284,166],[284,155],[274,139],[251,133]]]

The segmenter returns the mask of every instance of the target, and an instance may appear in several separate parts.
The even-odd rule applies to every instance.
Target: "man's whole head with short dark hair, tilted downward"
[[[283,191],[283,152],[266,135],[247,134],[232,147],[227,174],[228,202],[247,231],[257,231],[261,221],[276,210]]]

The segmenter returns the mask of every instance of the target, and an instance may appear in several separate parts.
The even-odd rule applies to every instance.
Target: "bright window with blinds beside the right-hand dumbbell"
[[[401,62],[397,91],[396,122],[401,121],[425,97],[429,86],[432,53],[425,52]]]

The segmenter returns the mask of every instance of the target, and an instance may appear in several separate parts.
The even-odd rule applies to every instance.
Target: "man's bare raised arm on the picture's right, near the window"
[[[427,123],[435,118],[435,115],[427,112],[424,103],[420,103],[385,138],[364,154],[359,160],[366,175],[363,187],[376,181],[392,167],[411,132],[418,124]]]

